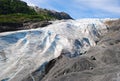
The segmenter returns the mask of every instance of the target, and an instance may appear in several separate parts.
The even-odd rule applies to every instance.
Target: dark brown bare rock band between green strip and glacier
[[[49,21],[29,21],[25,23],[0,23],[0,32],[42,28],[52,24]]]

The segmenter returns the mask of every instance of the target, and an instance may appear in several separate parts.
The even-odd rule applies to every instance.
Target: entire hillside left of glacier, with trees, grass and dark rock
[[[49,25],[50,20],[61,19],[72,18],[64,12],[38,7],[36,11],[21,0],[0,0],[0,32],[43,27]]]

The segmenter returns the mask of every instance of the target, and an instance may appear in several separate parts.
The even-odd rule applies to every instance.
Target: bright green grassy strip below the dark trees
[[[27,21],[42,21],[54,19],[48,15],[28,15],[28,14],[7,14],[0,15],[0,23],[23,23]]]

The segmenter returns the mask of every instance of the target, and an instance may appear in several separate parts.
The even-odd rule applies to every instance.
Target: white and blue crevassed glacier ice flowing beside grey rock
[[[61,54],[85,54],[108,32],[108,20],[59,20],[44,28],[0,33],[0,80],[21,81]]]

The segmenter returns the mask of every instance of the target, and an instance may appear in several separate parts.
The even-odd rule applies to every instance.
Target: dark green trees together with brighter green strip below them
[[[20,0],[0,0],[0,23],[22,23],[27,21],[52,20],[49,14],[35,12]]]

